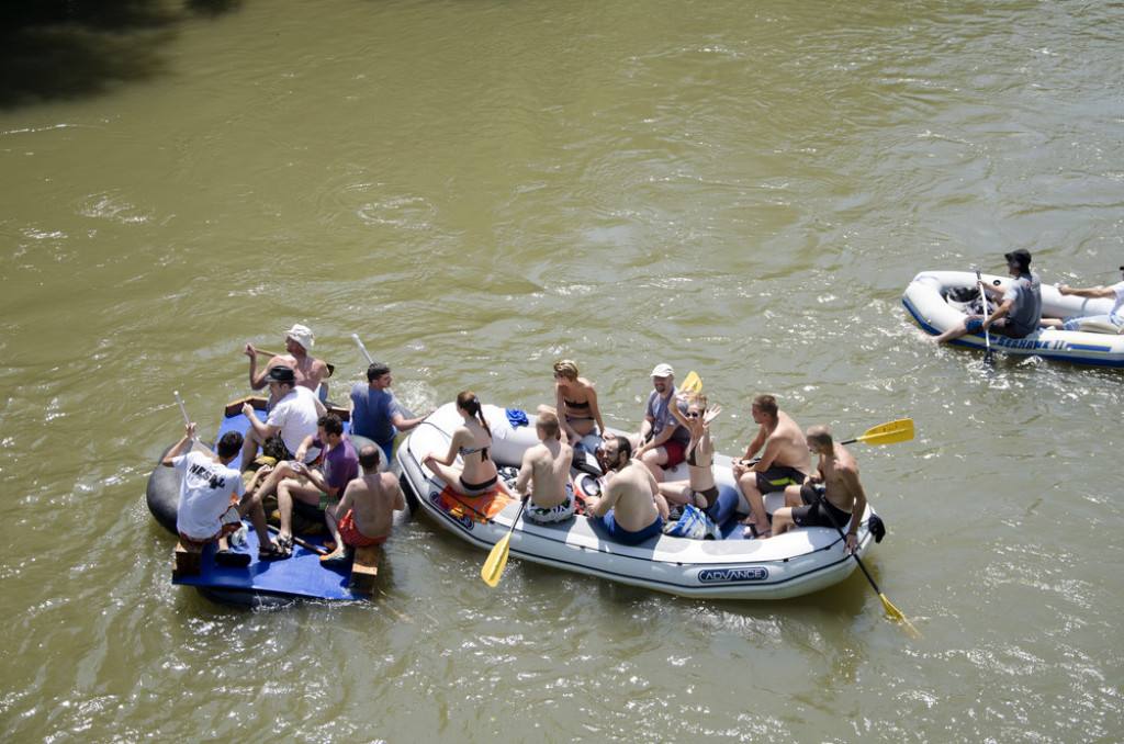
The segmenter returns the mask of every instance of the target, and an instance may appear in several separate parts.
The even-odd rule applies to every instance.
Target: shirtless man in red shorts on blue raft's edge
[[[398,479],[379,472],[379,447],[369,444],[360,450],[359,464],[363,475],[347,483],[339,503],[324,511],[336,543],[332,553],[320,556],[320,563],[329,568],[346,563],[356,547],[382,545],[395,525],[395,510],[406,508]]]

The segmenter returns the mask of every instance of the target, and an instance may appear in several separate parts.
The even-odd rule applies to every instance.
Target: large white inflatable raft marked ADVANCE
[[[502,408],[483,408],[492,427],[491,456],[497,466],[518,468],[527,447],[538,443],[534,427],[513,425],[511,420],[526,420],[522,411],[509,419]],[[685,597],[798,597],[836,584],[855,569],[856,562],[844,551],[835,529],[798,528],[769,539],[744,539],[738,519],[749,514],[749,505],[736,487],[728,456],[715,456],[720,496],[713,512],[722,532],[718,539],[659,535],[640,545],[623,545],[581,515],[553,525],[517,519],[517,500],[499,491],[478,499],[459,496],[422,466],[427,453],[448,451],[452,433],[462,421],[454,403],[442,406],[402,443],[397,464],[407,499],[419,503],[442,527],[479,547],[490,550],[514,521],[513,557]],[[587,453],[577,452],[575,460],[579,457],[571,471],[577,491],[599,492],[599,469]],[[667,471],[669,481],[686,479],[686,464]],[[782,493],[765,499],[770,512],[782,505]],[[868,506],[859,529],[860,556],[873,539],[869,529],[872,516]],[[481,554],[481,562],[483,559]]]

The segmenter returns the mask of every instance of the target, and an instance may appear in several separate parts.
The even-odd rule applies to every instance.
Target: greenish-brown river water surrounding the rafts
[[[4,740],[1120,741],[1120,374],[988,376],[900,305],[1015,247],[1114,280],[1120,3],[123,8],[0,52]],[[725,453],[760,392],[840,436],[913,418],[852,451],[924,639],[860,572],[759,604],[513,560],[491,590],[425,518],[372,602],[173,587],[144,503],[173,390],[217,427],[242,346],[298,321],[337,393],[356,333],[415,408],[533,408],[570,356],[617,427],[655,363],[698,371]]]

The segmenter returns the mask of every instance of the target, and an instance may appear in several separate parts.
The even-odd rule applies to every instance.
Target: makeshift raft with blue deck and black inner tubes
[[[264,398],[245,398],[228,403],[216,441],[227,432],[245,434],[246,429],[250,428],[250,421],[242,414],[244,402],[250,402],[255,408],[259,418],[264,420]],[[330,410],[344,419],[344,432],[351,436],[347,434],[347,410],[336,408]],[[363,445],[374,443],[365,437],[352,436],[352,444],[357,451]],[[208,450],[202,444],[194,446]],[[234,464],[236,465],[237,462]],[[387,463],[380,462],[380,469],[386,470]],[[180,499],[181,481],[180,471],[157,463],[148,477],[145,495],[148,510],[153,517],[173,535],[178,534],[175,514]],[[303,505],[297,505],[297,507],[299,511]],[[312,507],[303,508],[312,509]],[[323,518],[320,514],[309,516],[314,520]],[[408,511],[396,514],[396,525],[408,517]],[[209,543],[203,547],[199,574],[174,575],[172,583],[194,587],[201,595],[216,601],[248,607],[287,605],[298,599],[357,600],[366,597],[363,592],[351,588],[352,565],[350,563],[339,569],[326,569],[320,564],[320,553],[317,551],[323,550],[323,534],[318,536],[305,535],[302,539],[307,545],[294,543],[292,555],[284,561],[259,561],[257,535],[250,527],[248,520],[243,521],[246,524],[248,533],[246,543],[237,547],[232,546],[232,550],[236,553],[247,553],[251,556],[251,563],[247,568],[219,565],[215,560],[217,544]]]

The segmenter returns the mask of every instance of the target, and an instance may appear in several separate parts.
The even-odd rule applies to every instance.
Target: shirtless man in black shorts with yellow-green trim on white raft
[[[745,448],[745,454],[734,460],[734,478],[750,503],[750,516],[742,523],[750,525],[746,536],[769,537],[771,533],[763,496],[803,483],[812,470],[812,457],[808,456],[800,427],[791,416],[777,408],[776,398],[758,396],[751,410],[753,421],[761,428]],[[760,460],[752,465],[745,462],[762,447]]]

